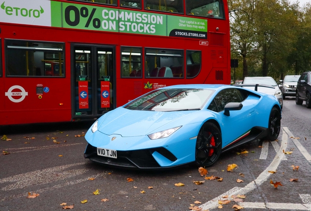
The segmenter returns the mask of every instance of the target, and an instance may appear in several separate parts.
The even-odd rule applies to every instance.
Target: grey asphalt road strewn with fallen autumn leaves
[[[222,182],[205,180],[191,165],[134,171],[94,164],[83,157],[87,144],[83,135],[91,124],[0,127],[0,137],[12,139],[0,140],[1,152],[10,153],[0,154],[0,211],[62,210],[62,203],[78,211],[187,211],[192,205],[216,211],[219,200],[230,201],[222,211],[232,211],[234,205],[250,211],[311,210],[311,109],[305,103],[295,105],[294,98],[284,102],[278,141],[246,144],[222,154],[217,164],[207,168],[207,177],[221,177]],[[237,154],[243,150],[248,153]],[[230,164],[238,167],[227,171]],[[283,186],[274,188],[270,180]],[[26,198],[28,192],[39,195]],[[245,198],[231,197],[238,194]],[[88,201],[81,203],[84,200]]]

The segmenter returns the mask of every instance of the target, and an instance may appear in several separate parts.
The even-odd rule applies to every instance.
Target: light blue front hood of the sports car
[[[119,107],[99,119],[98,130],[107,135],[143,136],[168,123],[171,124],[161,130],[187,124],[193,120],[193,112],[198,111],[137,111]]]

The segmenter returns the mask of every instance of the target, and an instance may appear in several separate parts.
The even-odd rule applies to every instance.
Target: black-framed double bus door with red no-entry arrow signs
[[[73,44],[73,119],[98,118],[115,108],[114,47]]]

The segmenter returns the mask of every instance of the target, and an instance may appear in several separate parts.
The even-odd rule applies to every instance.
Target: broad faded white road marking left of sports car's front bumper
[[[64,180],[69,177],[73,177],[76,175],[83,174],[87,172],[87,169],[73,169],[73,170],[66,170],[69,167],[84,165],[86,163],[75,163],[69,164],[65,166],[58,166],[48,169],[36,170],[32,172],[27,172],[23,174],[18,174],[15,176],[7,177],[0,179],[1,183],[13,183],[9,184],[1,190],[15,190],[15,189],[22,189],[25,187],[35,186],[35,185],[43,185],[51,182],[56,182],[58,180]]]

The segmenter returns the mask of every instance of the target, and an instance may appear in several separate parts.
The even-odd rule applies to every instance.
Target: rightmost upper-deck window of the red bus
[[[188,15],[224,18],[222,0],[186,0]]]

